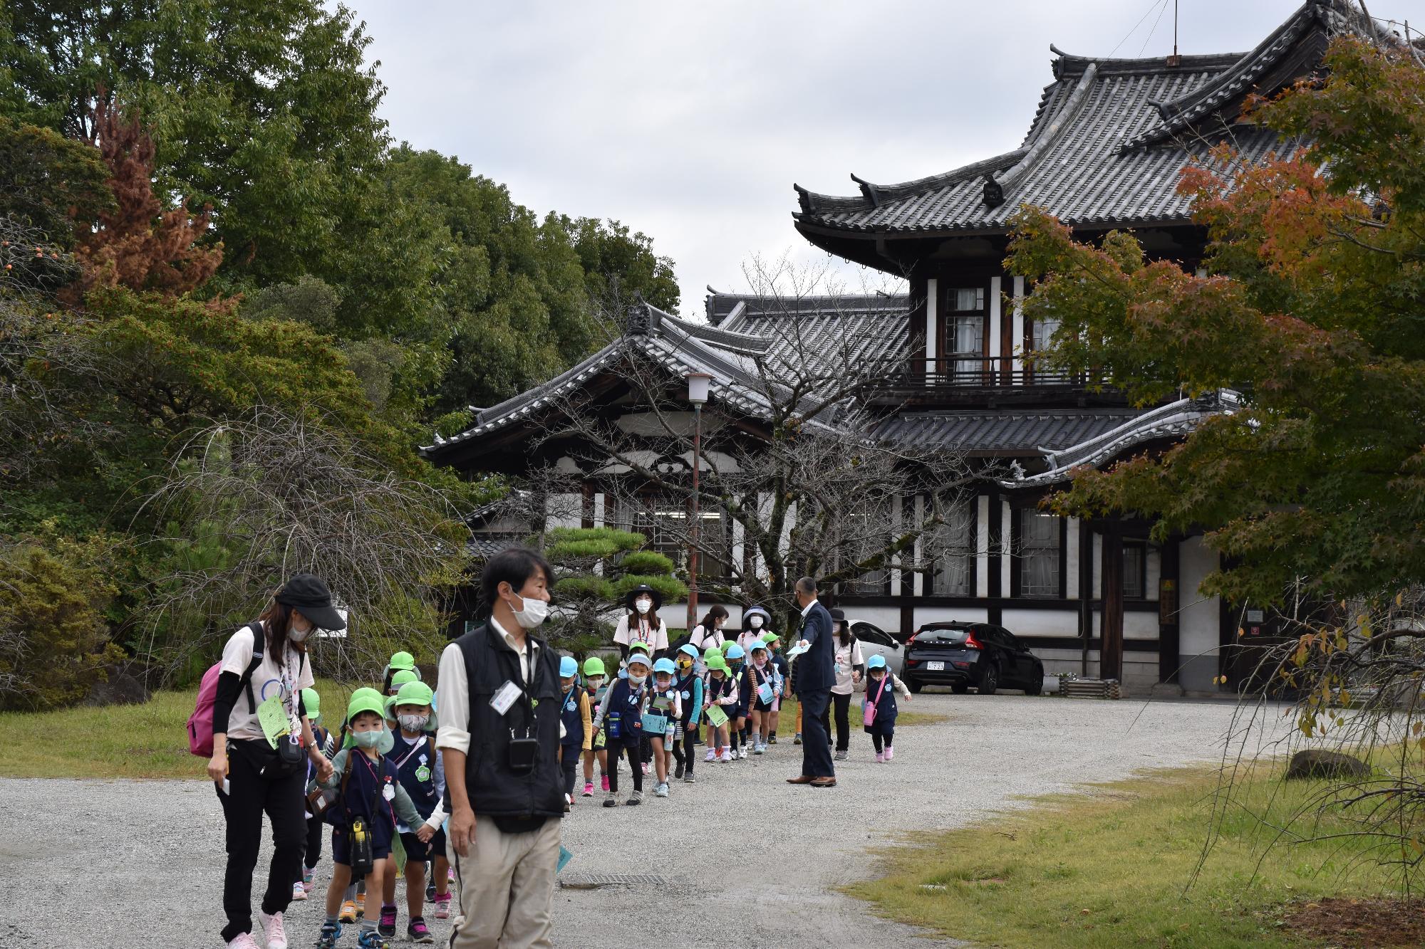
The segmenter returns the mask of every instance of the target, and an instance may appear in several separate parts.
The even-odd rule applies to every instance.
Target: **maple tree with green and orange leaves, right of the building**
[[[1425,580],[1425,68],[1349,38],[1325,64],[1254,111],[1310,148],[1263,164],[1221,148],[1184,175],[1210,275],[1146,262],[1127,234],[1076,242],[1037,211],[1012,245],[1036,281],[1026,315],[1060,321],[1054,365],[1140,402],[1244,393],[1054,500],[1140,512],[1159,539],[1201,526],[1230,564],[1204,590],[1237,601],[1297,579],[1328,600]]]

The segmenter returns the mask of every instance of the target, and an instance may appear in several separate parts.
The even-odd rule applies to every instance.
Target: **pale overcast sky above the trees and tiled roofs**
[[[543,214],[616,218],[671,256],[683,313],[754,254],[824,261],[792,182],[855,194],[1015,148],[1049,44],[1164,56],[1173,0],[348,0],[398,141]],[[1300,0],[1180,0],[1183,53],[1245,51]],[[1425,20],[1425,0],[1372,13]],[[1379,7],[1379,9],[1377,9]],[[1116,50],[1116,53],[1114,53]],[[865,281],[845,266],[848,289]]]

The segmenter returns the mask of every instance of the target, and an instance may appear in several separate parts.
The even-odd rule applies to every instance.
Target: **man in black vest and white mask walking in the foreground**
[[[440,655],[436,747],[460,901],[450,949],[553,945],[559,657],[533,636],[551,583],[537,553],[500,551],[480,574],[490,618]]]

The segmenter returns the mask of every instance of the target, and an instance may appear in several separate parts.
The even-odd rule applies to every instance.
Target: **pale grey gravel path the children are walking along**
[[[923,946],[831,889],[874,875],[869,848],[982,819],[1019,795],[1211,759],[1233,714],[1226,702],[939,694],[909,710],[949,720],[901,730],[889,765],[858,731],[832,789],[785,784],[801,771],[788,730],[764,757],[698,761],[698,782],[674,782],[667,801],[606,809],[597,794],[580,798],[564,821],[574,859],[554,893],[556,943],[627,949],[651,926],[660,945],[695,946],[735,926],[730,945]],[[221,945],[221,812],[205,782],[0,779],[0,949]],[[323,854],[314,896],[329,866]],[[311,946],[319,901],[289,915],[292,945]],[[402,909],[402,933],[405,922]],[[443,938],[447,926],[429,922]]]

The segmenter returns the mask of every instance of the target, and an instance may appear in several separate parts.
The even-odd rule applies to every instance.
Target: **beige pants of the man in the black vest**
[[[492,818],[475,822],[469,856],[449,848],[460,918],[450,949],[527,949],[553,946],[549,938],[559,866],[559,819],[539,831],[503,834]]]

